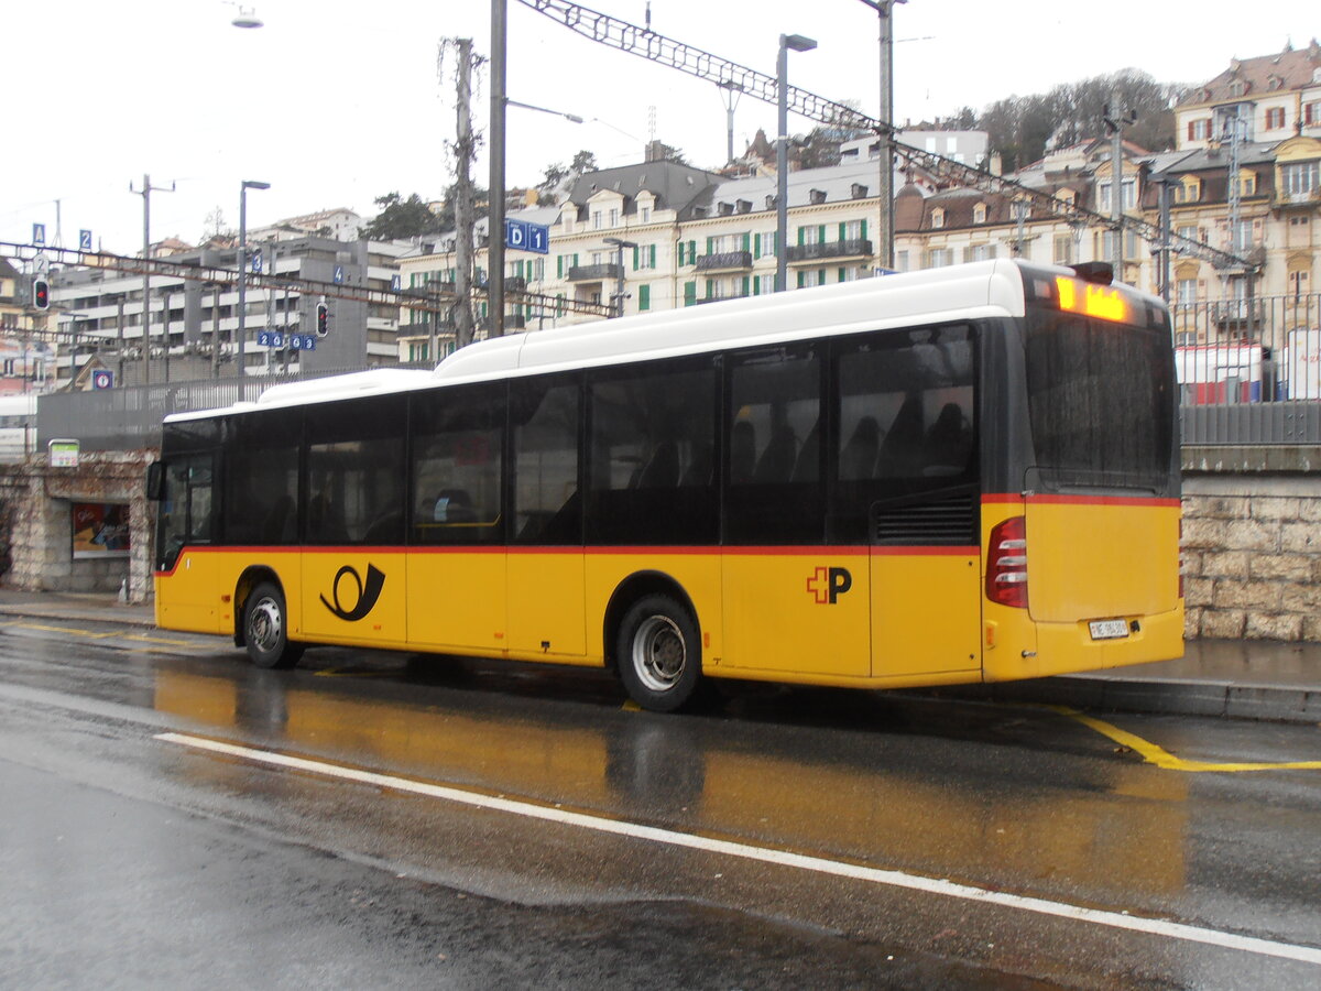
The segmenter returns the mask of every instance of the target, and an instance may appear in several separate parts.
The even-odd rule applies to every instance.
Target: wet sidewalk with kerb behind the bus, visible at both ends
[[[124,605],[111,593],[0,589],[0,616],[155,625],[153,606]],[[921,692],[1118,712],[1321,723],[1321,643],[1202,640],[1189,642],[1178,661]]]

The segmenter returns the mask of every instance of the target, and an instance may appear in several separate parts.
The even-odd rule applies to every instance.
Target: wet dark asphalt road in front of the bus
[[[1321,729],[1110,721],[7,617],[0,984],[1321,984]]]

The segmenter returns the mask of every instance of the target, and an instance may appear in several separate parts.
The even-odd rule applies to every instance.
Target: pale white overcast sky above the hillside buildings
[[[593,9],[642,24],[645,0],[592,0]],[[790,82],[835,100],[878,107],[877,16],[860,0],[651,0],[651,26],[676,41],[774,74],[781,33],[815,38],[790,53]],[[439,198],[453,178],[450,79],[437,75],[437,42],[472,37],[489,53],[482,0],[260,0],[264,26],[242,30],[221,0],[45,0],[7,3],[11,44],[0,71],[9,140],[0,165],[0,240],[28,242],[32,223],[63,244],[92,231],[107,251],[141,250],[143,198],[153,186],[152,239],[196,243],[217,206],[238,226],[239,184],[248,226],[345,206],[365,217],[398,190]],[[244,8],[248,8],[244,4]],[[509,111],[509,185],[536,182],[580,148],[602,165],[642,159],[651,132],[688,161],[725,157],[721,91],[671,69],[587,41],[507,0],[509,96],[583,116],[573,124]],[[251,9],[251,8],[248,8]],[[1246,11],[1250,9],[1250,15]],[[1012,94],[1141,69],[1161,82],[1202,82],[1247,58],[1321,34],[1314,3],[1219,4],[1153,0],[909,0],[896,5],[896,120],[982,110]],[[1190,13],[1197,12],[1196,16]],[[453,67],[453,59],[448,62]],[[490,90],[478,82],[474,119],[485,129]],[[742,98],[734,148],[775,108]],[[811,122],[791,118],[802,132]],[[486,185],[482,155],[477,182]]]

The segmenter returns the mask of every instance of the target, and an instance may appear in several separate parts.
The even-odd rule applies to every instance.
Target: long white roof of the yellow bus
[[[1065,272],[1067,270],[1059,270]],[[727,348],[771,346],[803,336],[826,337],[950,320],[1024,314],[1022,275],[1011,260],[930,268],[641,313],[552,330],[506,334],[469,345],[435,371],[376,369],[272,386],[256,403],[182,412],[165,423],[273,407],[332,402],[485,382],[539,373],[701,354]]]

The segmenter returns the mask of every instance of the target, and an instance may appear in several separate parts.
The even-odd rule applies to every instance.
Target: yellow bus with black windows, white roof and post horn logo
[[[465,348],[165,420],[160,626],[890,688],[1180,655],[1169,314],[995,260]]]

